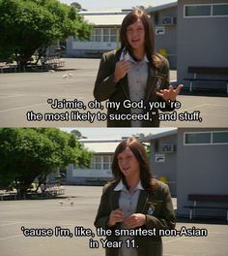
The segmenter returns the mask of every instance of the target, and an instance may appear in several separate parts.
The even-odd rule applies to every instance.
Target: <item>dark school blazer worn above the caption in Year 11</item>
[[[142,230],[153,230],[156,228],[157,236],[136,236],[135,244],[138,246],[138,256],[162,256],[162,241],[158,236],[158,230],[174,229],[176,225],[174,209],[169,188],[166,184],[153,179],[155,188],[153,190],[140,190],[136,213],[146,214],[146,224]],[[114,234],[115,229],[120,228],[120,223],[114,227],[108,227],[107,222],[112,210],[119,208],[119,197],[121,191],[114,191],[115,183],[109,183],[103,187],[100,206],[95,219],[96,228],[110,229],[112,235],[106,237],[110,241],[118,241],[119,237]],[[105,248],[106,256],[118,256],[118,248]]]

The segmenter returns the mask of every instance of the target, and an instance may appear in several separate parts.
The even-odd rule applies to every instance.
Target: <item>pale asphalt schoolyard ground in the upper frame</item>
[[[101,104],[103,110],[88,106],[89,102],[94,101],[93,88],[100,59],[66,58],[65,61],[65,68],[58,72],[0,74],[1,127],[106,126],[105,120],[98,120],[98,112],[104,113],[105,117],[105,103]],[[171,80],[176,80],[176,71],[171,71]],[[214,93],[209,95],[212,96]],[[56,110],[50,104],[54,99],[76,100],[77,103],[82,102],[85,109],[81,110],[77,105],[77,109],[73,110]],[[199,96],[191,93],[179,95],[178,101],[181,108],[168,116],[171,120],[162,121],[160,127],[228,126],[228,97]],[[72,111],[77,114],[72,116]],[[94,114],[94,120],[82,119],[89,118],[88,112]],[[51,113],[54,119],[47,120],[46,113]],[[81,113],[85,115],[82,117]],[[62,120],[59,120],[60,117]]]

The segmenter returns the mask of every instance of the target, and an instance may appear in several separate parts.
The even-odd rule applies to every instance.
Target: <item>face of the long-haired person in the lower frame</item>
[[[139,162],[128,146],[117,156],[117,160],[121,172],[127,179],[140,176]]]

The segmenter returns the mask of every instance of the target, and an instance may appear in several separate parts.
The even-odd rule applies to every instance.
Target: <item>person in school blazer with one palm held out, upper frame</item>
[[[157,127],[158,110],[149,108],[149,102],[164,101],[161,111],[173,111],[168,100],[175,101],[183,85],[174,89],[169,84],[168,61],[155,53],[152,22],[143,11],[134,10],[124,18],[120,41],[119,50],[101,57],[94,96],[121,103],[120,108],[108,106],[108,127]],[[143,101],[143,107],[126,108],[126,100]]]

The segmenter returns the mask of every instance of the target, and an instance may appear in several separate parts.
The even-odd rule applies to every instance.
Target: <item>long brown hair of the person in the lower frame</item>
[[[112,162],[112,174],[114,176],[114,183],[118,183],[121,179],[127,185],[125,176],[120,170],[118,164],[118,155],[122,153],[126,148],[129,148],[139,163],[140,178],[142,186],[145,189],[152,189],[152,174],[150,172],[150,166],[148,163],[148,156],[145,147],[138,140],[133,137],[129,137],[127,140],[120,143],[114,153]]]

